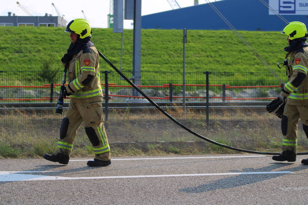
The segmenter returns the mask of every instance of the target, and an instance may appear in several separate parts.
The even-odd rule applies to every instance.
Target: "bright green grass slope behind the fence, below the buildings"
[[[0,33],[0,70],[40,71],[46,62],[51,71],[61,70],[60,59],[70,44],[68,33],[63,28],[3,27]],[[279,32],[239,31],[249,44],[262,56],[275,72],[284,72],[276,67],[282,62],[286,46]],[[112,29],[93,29],[92,41],[117,68],[120,68],[121,34]],[[141,38],[141,70],[160,72],[183,71],[182,30],[143,29]],[[124,30],[123,71],[132,71],[133,31]],[[185,45],[186,72],[269,72],[253,52],[233,33],[219,30],[188,30]],[[103,59],[101,70],[112,70]],[[12,73],[13,74],[13,73]],[[2,75],[0,79],[10,76]],[[36,72],[17,72],[10,79],[34,80]],[[236,77],[241,77],[237,74]],[[172,79],[172,76],[166,76]],[[151,76],[151,79],[154,79]],[[255,76],[245,76],[245,80]],[[259,76],[258,79],[264,79]],[[273,78],[274,79],[274,78]],[[143,79],[144,80],[144,79]]]

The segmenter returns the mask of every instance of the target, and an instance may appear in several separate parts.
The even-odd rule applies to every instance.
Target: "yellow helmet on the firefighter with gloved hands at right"
[[[290,40],[295,38],[306,37],[307,28],[306,25],[299,21],[292,21],[285,25],[282,30],[282,34],[286,34]]]

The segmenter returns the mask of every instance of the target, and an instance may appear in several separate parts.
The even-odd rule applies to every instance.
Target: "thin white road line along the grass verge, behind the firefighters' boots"
[[[221,157],[160,157],[160,158],[123,158],[123,159],[111,159],[111,161],[117,160],[170,160],[170,159],[207,159],[207,158],[241,158],[241,157],[266,157],[264,155],[246,155],[246,156],[221,156]],[[70,160],[70,161],[89,161],[88,160]]]

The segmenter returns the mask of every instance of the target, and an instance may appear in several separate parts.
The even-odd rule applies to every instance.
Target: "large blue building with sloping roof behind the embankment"
[[[308,27],[307,0],[264,0],[287,21],[301,21]],[[260,0],[223,0],[212,2],[237,30],[281,31],[286,23]],[[142,29],[230,30],[209,4],[200,4],[141,18]]]

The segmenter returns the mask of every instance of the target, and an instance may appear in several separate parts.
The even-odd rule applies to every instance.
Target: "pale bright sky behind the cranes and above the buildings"
[[[209,0],[210,2],[220,0]],[[0,0],[0,16],[7,16],[7,12],[12,12],[17,16],[28,16],[16,3],[16,0]],[[58,16],[54,3],[60,15],[70,22],[76,18],[87,18],[92,28],[107,28],[107,14],[110,13],[110,0],[18,0],[20,5],[26,8],[33,16],[45,16],[52,14]],[[84,2],[87,2],[86,4]],[[181,8],[193,6],[194,0],[176,0]],[[206,3],[205,0],[199,0],[199,4]],[[84,15],[82,13],[84,12]],[[141,15],[154,14],[157,12],[172,10],[167,0],[142,0]],[[133,21],[124,20],[124,29],[132,29]]]

